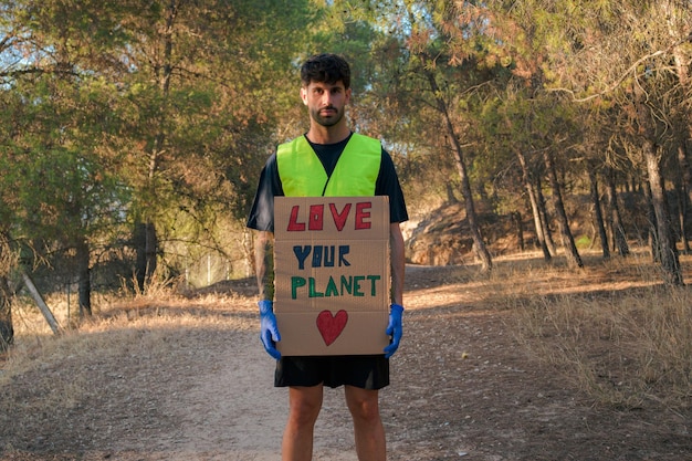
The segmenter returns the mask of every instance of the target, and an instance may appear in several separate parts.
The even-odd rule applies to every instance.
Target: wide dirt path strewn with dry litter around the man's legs
[[[407,276],[405,337],[381,392],[390,461],[692,459],[692,411],[594,405],[526,355],[485,286],[451,271]],[[272,387],[255,311],[252,293],[157,307],[180,326],[133,322],[111,355],[39,358],[0,395],[0,459],[279,461],[286,391]],[[325,389],[314,459],[356,461],[340,389]]]

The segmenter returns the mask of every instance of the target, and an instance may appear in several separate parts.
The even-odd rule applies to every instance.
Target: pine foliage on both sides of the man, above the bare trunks
[[[538,177],[541,153],[555,154],[565,187],[586,182],[586,160],[642,177],[636,88],[672,178],[691,126],[690,80],[671,66],[691,53],[681,7],[6,1],[2,230],[122,244],[104,229],[145,220],[161,254],[185,253],[181,241],[197,245],[190,254],[226,251],[223,233],[242,229],[265,159],[305,130],[300,63],[327,51],[352,62],[354,127],[384,139],[421,202],[458,177],[447,121],[474,193],[503,211],[524,207],[516,150]]]

